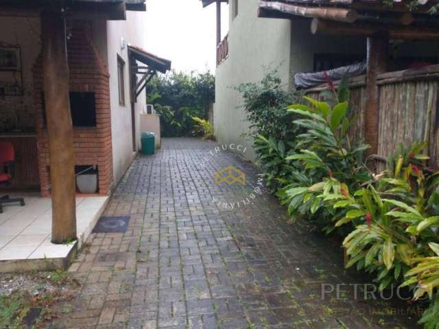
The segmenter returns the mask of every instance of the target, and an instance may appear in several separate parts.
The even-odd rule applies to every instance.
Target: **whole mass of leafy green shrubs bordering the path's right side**
[[[427,294],[420,324],[439,328],[439,173],[423,170],[425,143],[400,145],[383,173],[371,173],[368,145],[349,138],[355,118],[341,85],[331,88],[331,101],[304,97],[307,105],[289,106],[296,116],[289,140],[254,138],[265,175],[293,220],[344,237],[346,267],[375,276],[380,291],[410,287],[415,300]]]

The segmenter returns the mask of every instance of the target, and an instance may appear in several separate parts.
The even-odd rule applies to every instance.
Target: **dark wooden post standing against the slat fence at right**
[[[388,34],[379,33],[367,38],[366,112],[364,139],[371,146],[369,154],[377,154],[379,132],[379,89],[377,76],[388,66]]]

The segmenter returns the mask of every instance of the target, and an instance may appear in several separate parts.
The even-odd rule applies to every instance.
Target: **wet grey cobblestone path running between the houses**
[[[215,147],[169,138],[137,157],[105,211],[130,215],[128,231],[91,235],[52,328],[416,328],[416,306],[355,299],[340,243],[287,223],[268,193],[252,199],[256,169]],[[230,165],[246,187],[215,184]]]

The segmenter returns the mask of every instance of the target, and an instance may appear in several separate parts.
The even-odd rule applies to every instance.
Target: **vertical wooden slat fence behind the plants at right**
[[[438,71],[436,66],[427,68]],[[426,69],[424,69],[426,70]],[[399,143],[410,145],[413,141],[428,141],[429,167],[439,168],[439,74],[409,75],[410,71],[385,73],[379,80],[380,117],[378,155],[387,157],[394,153]],[[407,74],[407,76],[405,76]],[[322,100],[318,87],[305,90],[309,97]],[[351,110],[358,119],[351,130],[352,138],[364,136],[365,86],[353,84]],[[383,166],[379,166],[382,169]]]

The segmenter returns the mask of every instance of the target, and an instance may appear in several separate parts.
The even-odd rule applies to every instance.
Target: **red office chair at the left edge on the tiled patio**
[[[0,173],[0,184],[8,186],[11,184],[12,175],[14,174],[15,151],[11,143],[0,142],[0,167],[3,172]],[[3,204],[20,202],[20,206],[25,205],[23,197],[10,198],[9,195],[0,197],[0,213],[3,212]]]

